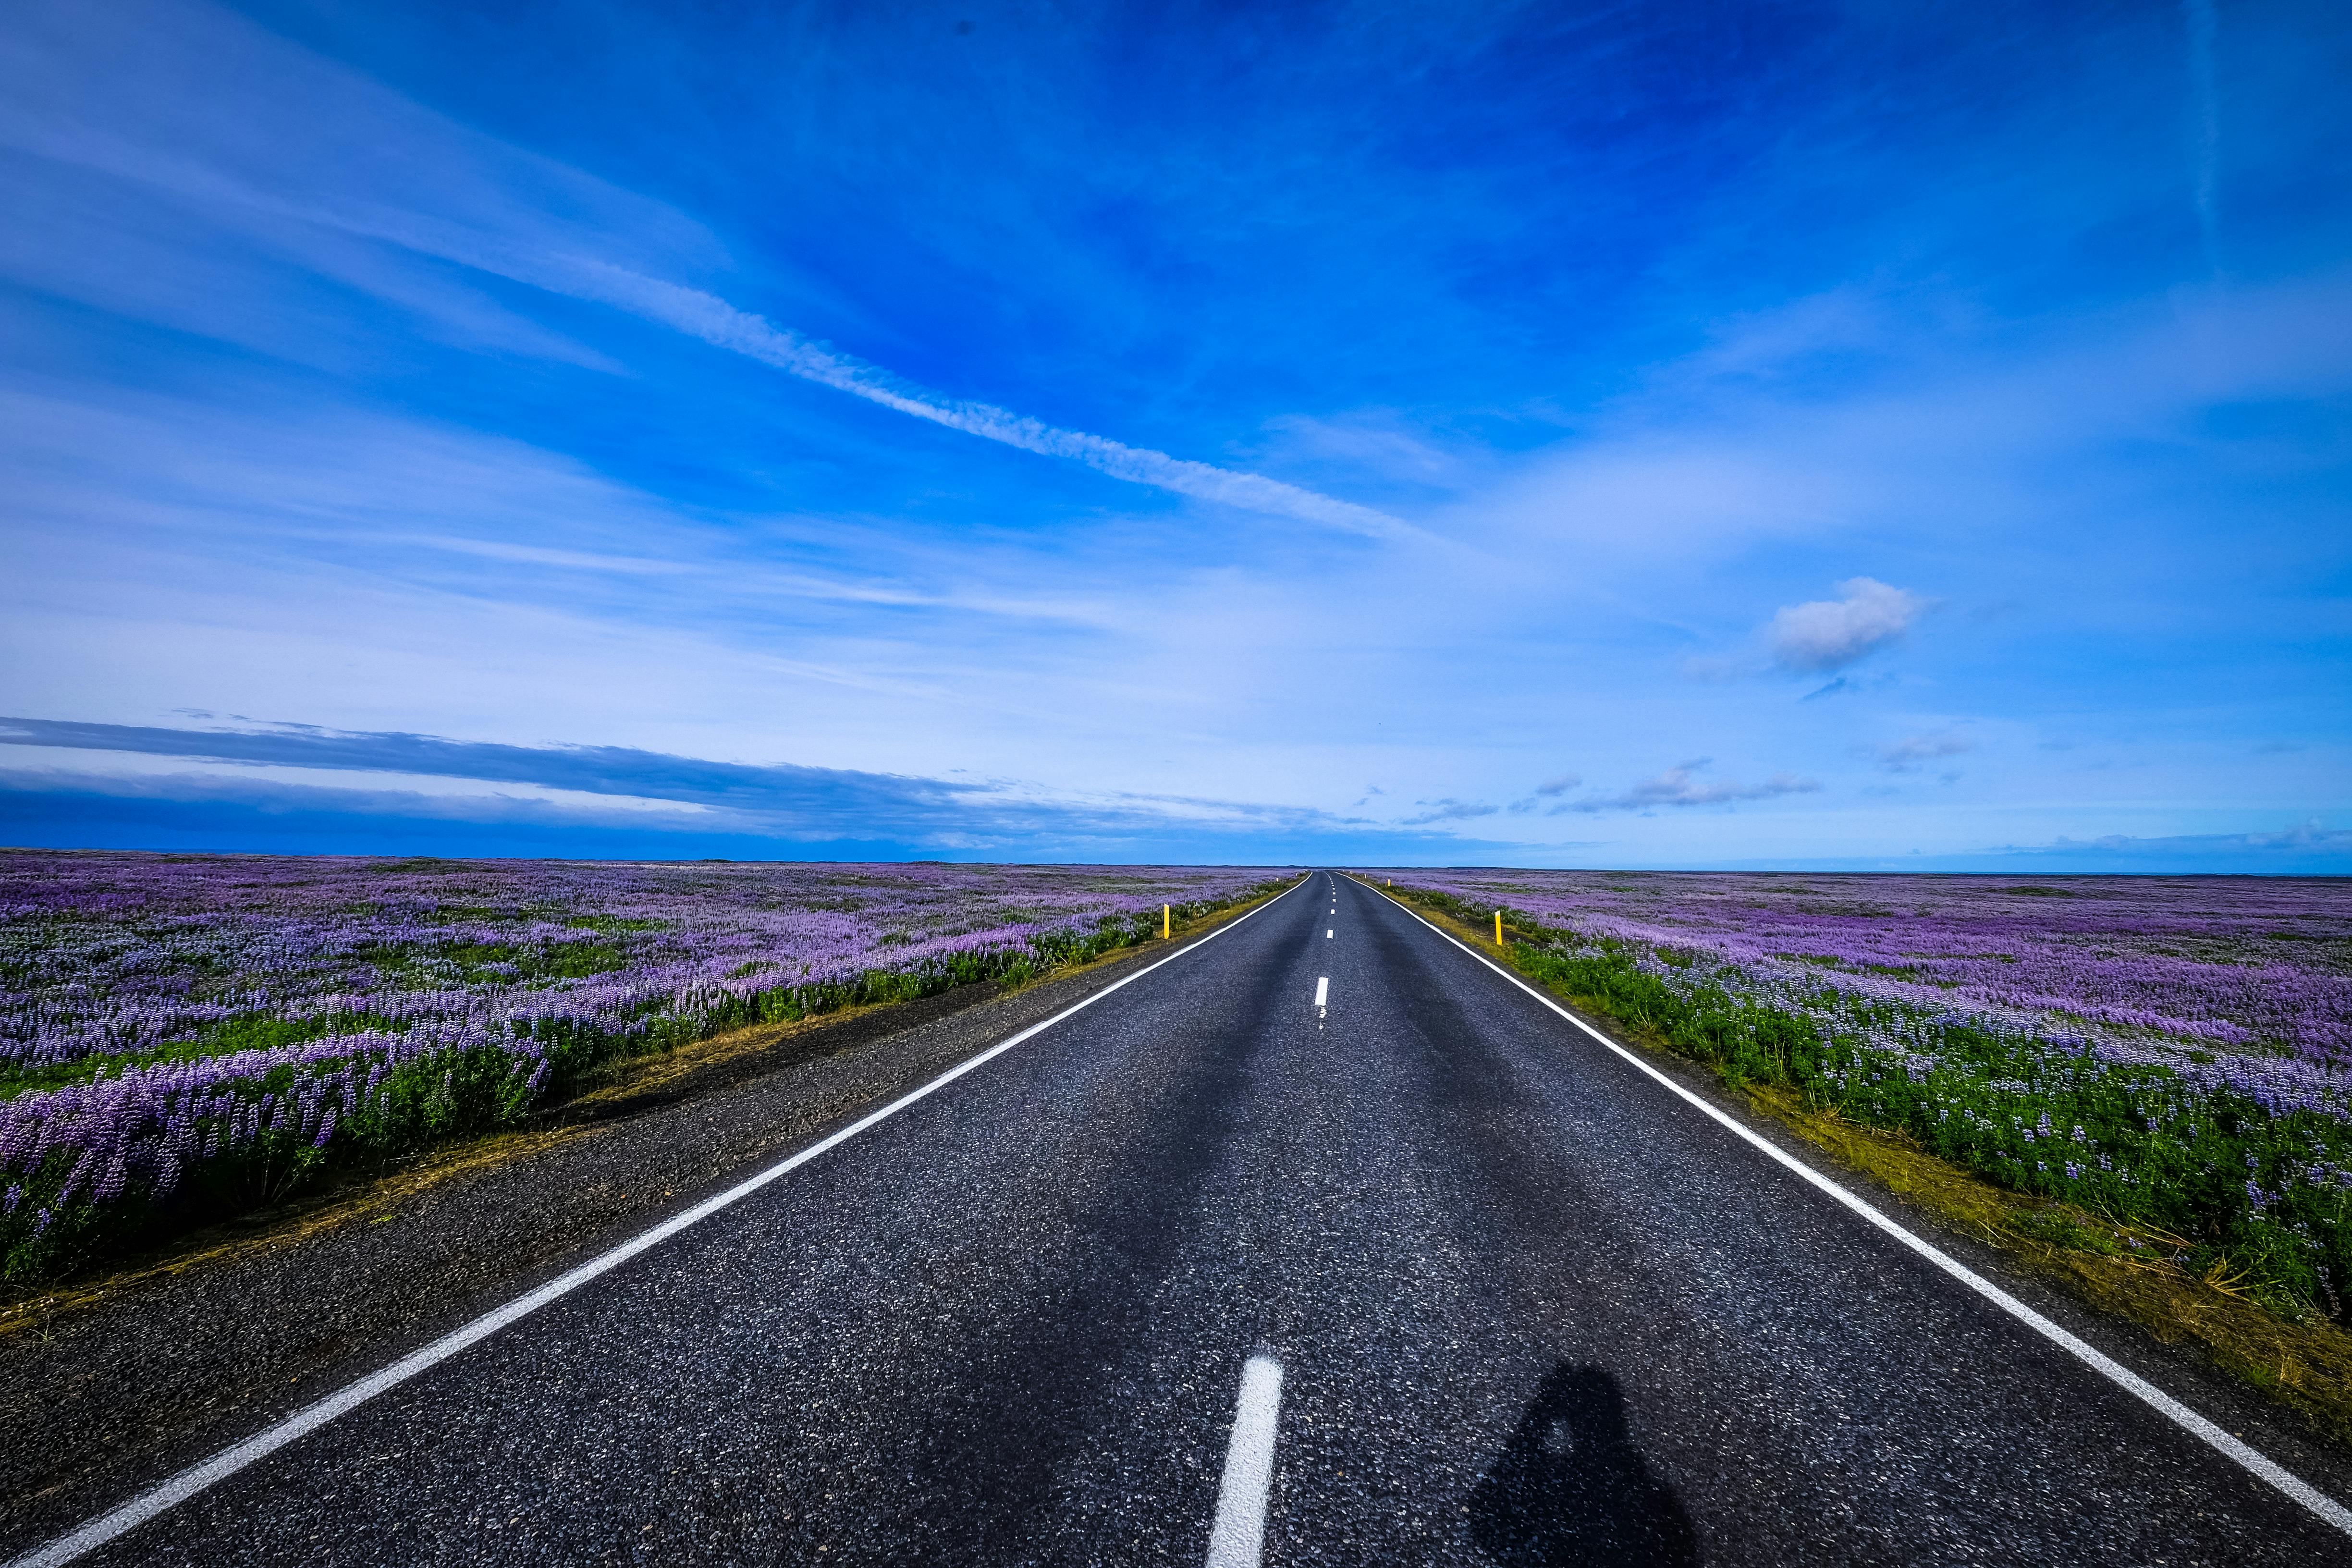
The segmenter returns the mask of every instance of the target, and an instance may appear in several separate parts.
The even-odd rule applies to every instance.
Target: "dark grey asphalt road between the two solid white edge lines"
[[[2352,1561],[1322,875],[85,1561],[1202,1563],[1211,1530],[1225,1563]]]

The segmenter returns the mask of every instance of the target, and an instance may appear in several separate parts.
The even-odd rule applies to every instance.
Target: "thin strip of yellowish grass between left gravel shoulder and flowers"
[[[1167,945],[1174,947],[1230,924],[1296,884],[1298,879],[1272,884],[1249,898],[1178,919]],[[1131,959],[1138,947],[1157,945],[1162,938],[1152,931],[1134,943],[1091,957],[1073,957],[1054,969],[1033,966],[1016,978],[978,980],[971,985],[971,999],[1009,997],[1047,980],[1087,976]],[[741,1025],[661,1051],[612,1058],[581,1074],[567,1098],[534,1107],[522,1126],[452,1135],[390,1161],[336,1164],[322,1168],[320,1180],[301,1192],[242,1213],[214,1215],[195,1229],[155,1237],[146,1251],[101,1253],[89,1260],[89,1267],[68,1274],[12,1281],[9,1291],[0,1293],[0,1338],[45,1335],[49,1324],[64,1314],[101,1305],[127,1288],[165,1276],[275,1253],[346,1225],[388,1222],[405,1204],[452,1178],[534,1159],[581,1135],[593,1135],[600,1121],[856,1048],[873,1039],[873,1032],[856,1025],[887,1023],[910,1013],[920,999],[844,1001],[830,1011],[786,1023]]]

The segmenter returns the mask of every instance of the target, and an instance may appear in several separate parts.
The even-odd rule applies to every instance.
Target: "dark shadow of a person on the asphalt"
[[[1470,1540],[1519,1568],[1682,1568],[1698,1535],[1682,1500],[1625,1434],[1625,1394],[1597,1366],[1562,1361],[1470,1490]]]

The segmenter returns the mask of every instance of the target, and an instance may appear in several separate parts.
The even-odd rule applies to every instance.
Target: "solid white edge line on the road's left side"
[[[1145,964],[1143,969],[1138,969],[1136,973],[1124,976],[1120,980],[1112,980],[1103,990],[1094,992],[1091,997],[1084,997],[1082,1001],[1075,1001],[1075,1004],[1065,1006],[1063,1011],[1054,1013],[1044,1023],[1033,1023],[1030,1027],[1021,1030],[1018,1034],[1014,1034],[1009,1039],[997,1041],[995,1046],[981,1051],[978,1056],[964,1058],[962,1063],[957,1063],[955,1067],[948,1067],[946,1072],[941,1072],[936,1079],[931,1079],[922,1088],[903,1093],[896,1100],[891,1100],[889,1105],[884,1105],[882,1110],[868,1112],[866,1117],[858,1117],[849,1126],[844,1126],[844,1128],[840,1128],[840,1131],[835,1131],[835,1133],[830,1133],[830,1135],[811,1143],[809,1147],[800,1150],[797,1154],[790,1154],[790,1157],[776,1161],[774,1166],[769,1166],[767,1171],[760,1171],[750,1180],[736,1182],[727,1192],[720,1192],[717,1197],[708,1197],[701,1204],[696,1204],[694,1208],[687,1208],[684,1213],[670,1215],[661,1225],[630,1237],[628,1241],[623,1241],[621,1246],[616,1246],[616,1248],[612,1248],[607,1253],[597,1253],[595,1258],[590,1258],[588,1262],[579,1265],[576,1269],[572,1269],[567,1274],[557,1274],[555,1279],[550,1279],[548,1284],[539,1286],[536,1291],[517,1295],[515,1300],[506,1302],[503,1307],[485,1312],[482,1316],[473,1319],[463,1328],[452,1328],[449,1333],[445,1333],[442,1338],[433,1340],[423,1349],[409,1352],[407,1356],[402,1356],[400,1361],[393,1361],[383,1371],[369,1373],[367,1378],[360,1378],[358,1382],[350,1382],[350,1385],[336,1389],[334,1394],[327,1394],[318,1403],[303,1406],[301,1410],[296,1410],[294,1415],[285,1418],[275,1427],[268,1427],[266,1432],[256,1432],[254,1436],[245,1439],[242,1443],[233,1443],[233,1446],[223,1448],[221,1453],[212,1455],[209,1460],[191,1465],[188,1469],[179,1472],[176,1476],[172,1476],[172,1479],[167,1479],[167,1481],[148,1488],[146,1493],[139,1493],[136,1497],[132,1497],[122,1507],[115,1507],[115,1509],[111,1509],[106,1514],[99,1514],[96,1519],[92,1519],[82,1528],[73,1530],[71,1535],[59,1535],[56,1540],[52,1540],[52,1542],[47,1542],[42,1547],[33,1547],[31,1552],[26,1552],[21,1556],[9,1559],[7,1568],[59,1568],[59,1563],[71,1563],[73,1559],[82,1556],[85,1552],[94,1552],[96,1547],[103,1547],[106,1542],[115,1540],[118,1535],[125,1535],[125,1533],[139,1528],[141,1523],[146,1523],[148,1519],[155,1519],[158,1514],[179,1507],[188,1497],[195,1497],[205,1488],[209,1488],[209,1486],[214,1486],[219,1481],[226,1481],[228,1476],[238,1474],[247,1465],[252,1465],[256,1460],[263,1460],[263,1458],[278,1453],[280,1448],[285,1448],[287,1443],[292,1443],[292,1441],[296,1441],[301,1436],[308,1436],[310,1432],[318,1432],[320,1427],[325,1427],[327,1422],[336,1420],[339,1415],[346,1415],[346,1413],[360,1408],[362,1403],[367,1403],[376,1394],[383,1394],[386,1389],[400,1387],[402,1382],[407,1382],[416,1373],[423,1373],[423,1371],[430,1371],[430,1368],[440,1366],[442,1361],[447,1361],[449,1356],[459,1354],[468,1345],[477,1345],[477,1342],[487,1340],[489,1335],[499,1333],[501,1328],[506,1328],[510,1324],[517,1324],[517,1321],[527,1319],[529,1314],[539,1312],[548,1302],[553,1302],[553,1300],[557,1300],[562,1295],[569,1295],[572,1291],[579,1291],[590,1279],[609,1274],[612,1269],[621,1267],[630,1258],[635,1258],[640,1253],[649,1253],[652,1248],[661,1246],[663,1241],[668,1241],[677,1232],[708,1220],[710,1215],[715,1215],[722,1208],[729,1208],[731,1204],[739,1204],[739,1201],[748,1199],[760,1187],[767,1187],[769,1182],[774,1182],[774,1180],[779,1180],[783,1175],[790,1175],[793,1171],[797,1171],[800,1166],[809,1164],[818,1154],[849,1143],[851,1138],[856,1138],[866,1128],[875,1126],[877,1121],[887,1121],[889,1117],[896,1117],[898,1112],[903,1112],[908,1105],[913,1105],[913,1103],[917,1103],[917,1100],[922,1100],[922,1098],[927,1098],[931,1093],[938,1093],[941,1088],[946,1088],[955,1079],[964,1077],[974,1067],[993,1063],[995,1058],[1004,1056],[1007,1051],[1011,1051],[1021,1041],[1035,1039],[1037,1034],[1044,1034],[1047,1030],[1051,1030],[1063,1018],[1070,1018],[1073,1013],[1082,1013],[1084,1009],[1094,1006],[1096,1001],[1101,1001],[1110,992],[1122,990],[1127,985],[1134,985],[1136,980],[1141,980],[1143,976],[1152,973],[1162,964],[1174,964],[1176,959],[1188,957],[1190,952],[1195,952],[1195,950],[1214,943],[1216,938],[1221,938],[1228,931],[1232,931],[1235,926],[1240,926],[1244,919],[1251,919],[1254,914],[1258,914],[1258,910],[1275,907],[1277,903],[1282,903],[1284,898],[1289,898],[1294,891],[1298,891],[1298,886],[1303,886],[1303,884],[1291,884],[1291,886],[1282,889],[1279,893],[1275,893],[1272,898],[1268,898],[1265,903],[1261,903],[1256,910],[1249,910],[1240,919],[1232,919],[1232,922],[1218,926],[1209,936],[1204,936],[1204,938],[1200,938],[1195,943],[1185,943],[1183,947],[1178,947],[1176,952],[1167,954],[1164,959],[1155,959],[1155,961]]]

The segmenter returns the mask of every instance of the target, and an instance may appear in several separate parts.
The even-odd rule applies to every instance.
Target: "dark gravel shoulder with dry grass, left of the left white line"
[[[536,1126],[0,1316],[0,1540],[71,1528],[1256,905],[1084,969],[616,1074]]]

